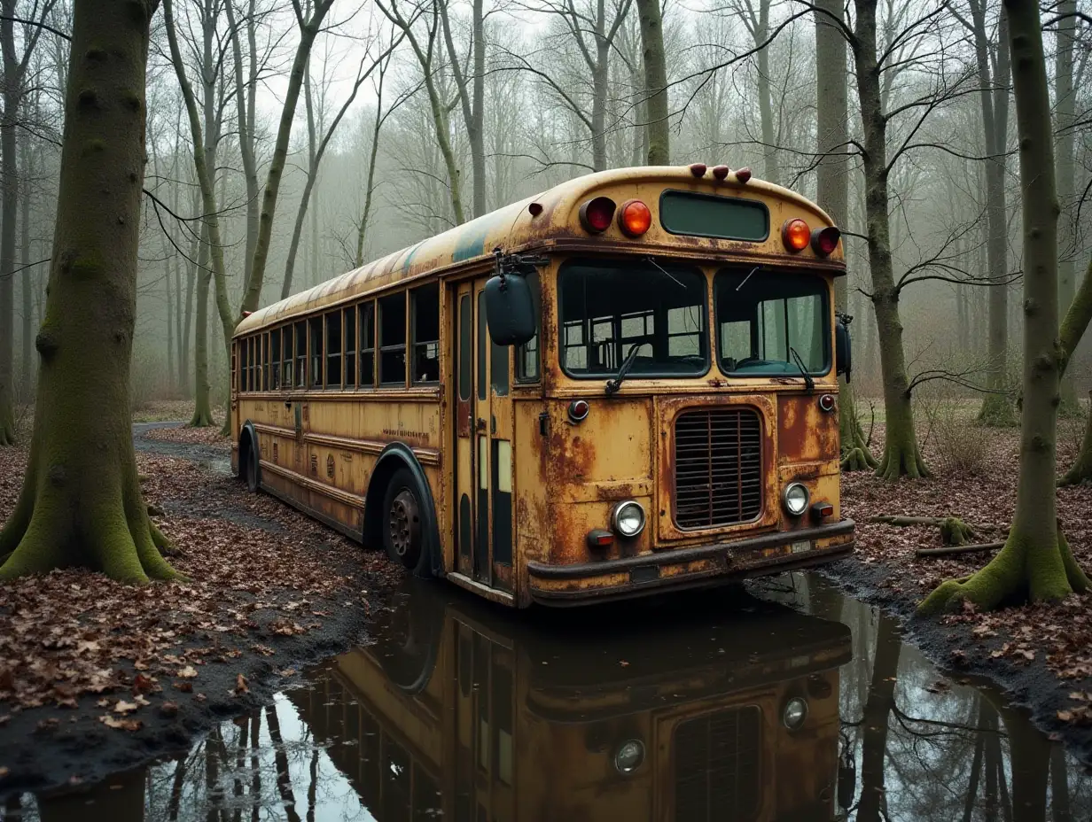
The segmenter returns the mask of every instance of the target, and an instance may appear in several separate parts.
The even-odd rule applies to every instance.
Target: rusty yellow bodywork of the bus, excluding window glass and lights
[[[761,203],[769,213],[769,236],[744,241],[669,234],[660,219],[665,191]],[[651,228],[630,238],[613,223],[602,234],[589,234],[580,207],[596,196],[616,203],[642,200],[652,211]],[[760,180],[740,181],[734,174],[717,180],[711,172],[698,176],[686,167],[603,171],[276,302],[247,317],[236,330],[233,466],[244,474],[250,470],[254,486],[367,544],[378,543],[388,526],[388,512],[380,509],[391,469],[413,464],[422,485],[427,485],[420,495],[427,498],[422,500],[420,527],[429,531],[426,537],[434,540],[436,555],[428,571],[514,606],[581,604],[667,587],[707,586],[844,556],[852,550],[853,523],[841,516],[839,503],[833,357],[807,390],[799,376],[728,377],[712,354],[719,350],[716,343],[710,342],[716,329],[713,277],[729,265],[746,266],[755,277],[771,281],[794,272],[820,277],[824,311],[830,329],[834,327],[833,281],[845,273],[841,243],[826,258],[810,247],[788,253],[779,229],[794,218],[812,228],[832,225],[805,198]],[[535,379],[512,378],[520,367],[514,348],[495,354],[488,343],[483,345],[479,295],[494,271],[494,249],[548,259],[538,271]],[[577,259],[638,260],[656,267],[669,261],[700,270],[707,281],[708,370],[669,379],[631,374],[613,396],[604,395],[602,380],[567,376],[559,364],[558,270]],[[408,362],[411,348],[416,350],[413,312],[417,295],[431,287],[438,287],[439,338],[429,345],[437,348],[439,372],[437,379],[418,383]],[[399,297],[406,291],[408,298]],[[385,307],[397,299],[405,302],[401,322],[410,335],[402,341],[403,381],[387,384],[372,371],[370,385],[357,385],[365,378],[356,374],[347,384],[330,384],[333,380],[324,374],[343,366],[328,362],[316,345],[323,344],[328,332],[334,337],[344,333],[351,314],[356,318],[354,333],[360,332],[368,305],[372,325],[380,312],[396,320],[397,309]],[[468,312],[460,318],[467,306]],[[339,310],[345,311],[341,319]],[[466,331],[467,323],[473,331]],[[297,370],[292,384],[274,384],[276,376],[288,374],[280,366],[287,369],[293,327],[297,331],[290,358]],[[305,349],[298,348],[300,327]],[[276,355],[282,330],[284,345]],[[375,329],[371,333],[369,356],[379,360],[390,346],[381,352],[385,341],[375,335]],[[352,345],[343,341],[343,353]],[[465,365],[459,360],[460,345],[471,352],[466,361],[474,388],[468,402],[456,384],[456,370]],[[833,352],[833,331],[823,345]],[[277,361],[271,367],[273,356]],[[354,356],[355,361],[365,361],[363,348]],[[305,360],[307,376],[299,384],[304,370],[298,367]],[[347,368],[348,360],[344,362]],[[503,392],[489,383],[498,366],[507,372]],[[484,397],[483,385],[489,386]],[[574,424],[568,409],[578,400],[589,403],[590,413]],[[675,425],[684,414],[713,412],[738,412],[756,420],[761,433],[756,479],[761,485],[760,509],[746,521],[681,527],[673,508]],[[248,468],[251,462],[254,467]],[[808,499],[826,503],[828,513],[817,516],[809,509],[803,516],[790,516],[781,504],[790,483],[803,484]],[[613,508],[624,500],[643,507],[646,527],[636,538],[617,538],[603,549],[592,547],[589,535],[608,529]]]

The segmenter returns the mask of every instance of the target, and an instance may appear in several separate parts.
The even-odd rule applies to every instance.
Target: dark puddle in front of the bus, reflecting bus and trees
[[[375,645],[185,755],[0,819],[1092,819],[1092,776],[1002,700],[792,583],[530,615],[415,587]]]

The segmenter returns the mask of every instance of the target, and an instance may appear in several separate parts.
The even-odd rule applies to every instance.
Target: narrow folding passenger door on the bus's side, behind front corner
[[[455,293],[455,537],[459,573],[512,591],[512,401],[507,347],[486,327],[485,278]]]

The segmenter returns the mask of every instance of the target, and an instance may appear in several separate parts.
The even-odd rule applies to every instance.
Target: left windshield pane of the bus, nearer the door
[[[559,278],[561,367],[579,379],[614,377],[637,347],[631,376],[709,370],[705,277],[651,260],[578,260]]]

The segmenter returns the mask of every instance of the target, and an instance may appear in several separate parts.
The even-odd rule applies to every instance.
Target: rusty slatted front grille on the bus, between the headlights
[[[762,510],[762,424],[752,408],[687,412],[675,420],[675,524],[732,525]]]

